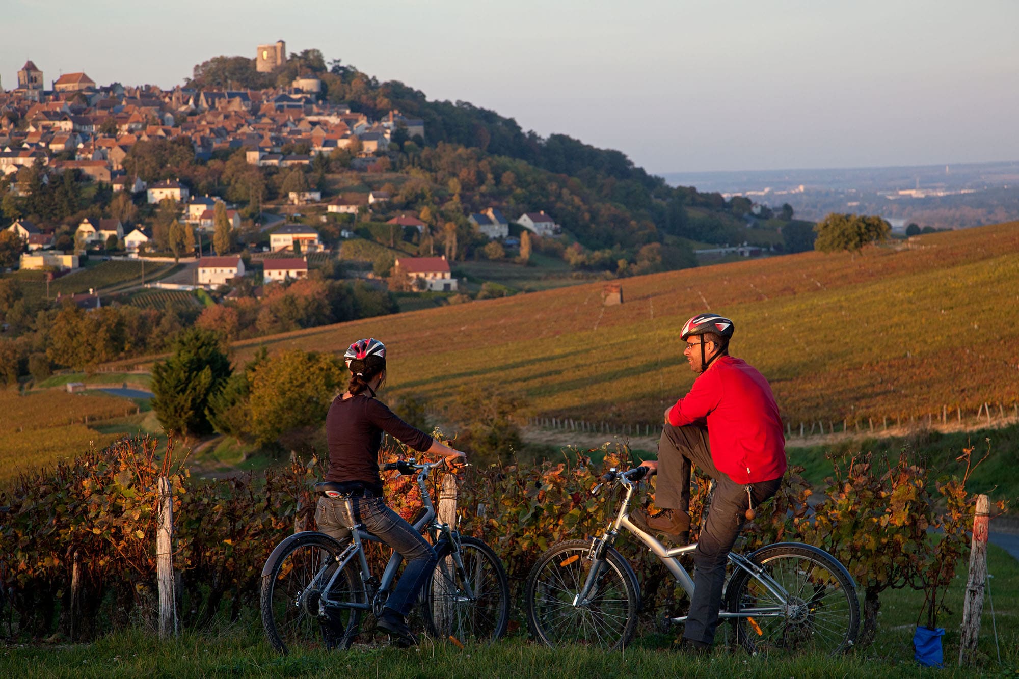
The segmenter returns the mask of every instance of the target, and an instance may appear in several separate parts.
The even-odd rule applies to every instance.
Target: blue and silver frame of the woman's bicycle
[[[413,460],[411,460],[410,462],[411,464],[414,463]],[[425,481],[428,478],[429,470],[432,467],[437,467],[440,464],[442,463],[437,462],[431,464],[426,463],[423,465],[416,465],[416,468],[418,469],[418,478],[417,478],[418,489],[421,493],[422,504],[425,507],[425,514],[414,523],[414,529],[417,530],[418,532],[421,532],[422,530],[427,528],[429,532],[432,533],[433,541],[436,543],[438,543],[438,539],[436,539],[437,536],[439,534],[443,535],[451,545],[451,553],[452,553],[451,557],[457,566],[457,569],[461,573],[463,573],[464,563],[461,559],[461,552],[460,552],[460,533],[454,531],[452,527],[449,526],[449,524],[439,523],[435,521],[436,517],[435,506],[432,504],[431,493],[428,492],[428,488],[425,485]],[[353,520],[354,503],[350,495],[344,497],[343,502],[346,506],[346,515],[351,517],[351,519]],[[372,611],[376,608],[381,608],[381,605],[385,602],[385,598],[388,596],[390,587],[393,583],[393,580],[396,577],[396,569],[399,567],[399,563],[400,561],[403,561],[403,557],[400,557],[395,551],[393,551],[392,555],[389,557],[389,561],[386,562],[385,569],[382,571],[381,580],[379,581],[375,580],[374,576],[372,575],[371,568],[368,565],[368,556],[367,553],[365,552],[365,546],[364,546],[365,541],[368,540],[373,542],[381,542],[384,544],[385,541],[382,538],[364,530],[364,525],[360,523],[355,524],[351,528],[351,537],[352,537],[351,544],[348,544],[346,549],[343,550],[343,552],[341,552],[339,555],[336,556],[335,562],[338,564],[338,566],[333,571],[332,577],[330,577],[329,581],[326,583],[326,586],[322,588],[321,591],[323,592],[331,591],[332,586],[335,584],[336,578],[339,577],[339,574],[342,572],[343,568],[346,567],[347,563],[351,560],[357,558],[360,566],[359,570],[361,573],[362,584],[365,587],[365,593],[366,593],[365,598],[367,600],[364,604],[357,604],[354,602],[335,602],[333,599],[327,598],[326,596],[322,596],[322,598],[319,599],[320,615],[324,615],[325,609],[328,608],[347,608],[347,609],[359,609],[362,611]],[[319,571],[319,573],[316,575],[315,579],[312,581],[312,584],[316,583],[319,580],[319,577],[321,575],[324,575],[330,566],[331,564],[323,565],[322,570]],[[470,583],[465,581],[464,586],[468,588],[466,592],[467,596],[474,598],[474,592],[469,589]]]

